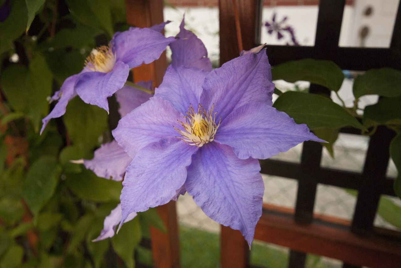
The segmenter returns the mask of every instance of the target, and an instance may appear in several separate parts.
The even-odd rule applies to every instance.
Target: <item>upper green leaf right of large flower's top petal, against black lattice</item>
[[[338,91],[344,80],[340,67],[329,60],[302,59],[284,62],[271,68],[272,80],[285,80],[290,83],[309,81]]]

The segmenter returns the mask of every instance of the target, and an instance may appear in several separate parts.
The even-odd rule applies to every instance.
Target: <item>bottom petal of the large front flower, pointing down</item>
[[[229,146],[211,142],[192,156],[185,186],[207,216],[240,230],[250,245],[262,214],[259,171],[258,160],[241,160]]]

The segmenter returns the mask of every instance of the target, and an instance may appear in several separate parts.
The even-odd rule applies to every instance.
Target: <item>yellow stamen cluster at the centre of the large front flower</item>
[[[213,113],[214,106],[213,104],[209,112],[199,104],[198,112],[195,112],[192,108],[192,104],[190,104],[188,112],[186,112],[186,116],[184,116],[185,122],[177,120],[181,123],[184,130],[173,126],[174,129],[181,134],[181,137],[176,138],[183,140],[189,145],[196,145],[198,147],[202,147],[203,144],[213,141],[221,120],[219,120],[219,124],[216,124],[217,112]]]

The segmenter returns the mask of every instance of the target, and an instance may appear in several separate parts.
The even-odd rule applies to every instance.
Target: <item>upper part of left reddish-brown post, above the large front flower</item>
[[[163,22],[163,0],[126,0],[127,23],[136,27],[150,27]],[[134,82],[153,80],[158,86],[167,68],[166,53],[150,64],[134,68]]]

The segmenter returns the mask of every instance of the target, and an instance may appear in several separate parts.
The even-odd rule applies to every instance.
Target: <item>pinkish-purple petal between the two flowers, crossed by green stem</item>
[[[143,88],[152,90],[152,81],[140,81],[136,84],[138,86],[142,86]],[[152,97],[152,94],[141,91],[137,88],[124,86],[115,92],[115,96],[117,98],[117,102],[120,104],[118,112],[120,113],[121,117],[124,117],[142,103],[145,103],[147,100],[149,100],[149,98]]]

